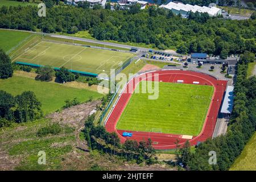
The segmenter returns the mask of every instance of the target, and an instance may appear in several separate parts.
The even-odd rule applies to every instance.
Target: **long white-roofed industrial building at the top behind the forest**
[[[193,13],[196,13],[198,11],[199,13],[208,13],[209,16],[217,16],[221,15],[221,9],[211,6],[197,6],[197,5],[184,5],[183,3],[174,3],[170,2],[167,5],[161,5],[160,7],[163,7],[164,9],[171,10],[175,14],[181,14],[183,17],[187,17],[189,12],[192,11]]]

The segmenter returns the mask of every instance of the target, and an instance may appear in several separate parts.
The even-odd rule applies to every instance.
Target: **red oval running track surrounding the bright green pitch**
[[[117,133],[122,143],[125,142],[126,139],[141,141],[151,138],[153,142],[152,146],[156,150],[173,149],[176,148],[176,140],[179,140],[179,144],[181,146],[186,142],[186,140],[188,140],[182,138],[182,135],[144,131],[117,130],[115,127],[138,82],[141,80],[154,81],[154,74],[156,73],[159,74],[159,81],[163,82],[177,82],[177,80],[183,80],[184,84],[193,84],[193,81],[197,81],[200,85],[212,85],[214,87],[212,102],[210,102],[203,129],[201,130],[201,133],[199,135],[194,136],[192,139],[189,139],[189,143],[191,144],[191,146],[193,146],[197,144],[197,142],[204,142],[208,138],[211,138],[217,121],[218,110],[220,109],[222,97],[226,89],[227,81],[217,80],[216,78],[210,75],[206,75],[204,73],[181,70],[160,70],[143,73],[142,75],[139,75],[129,81],[125,89],[123,89],[123,92],[119,96],[119,100],[114,106],[112,113],[110,113],[108,120],[106,121],[106,130],[110,133]],[[133,133],[133,137],[122,137],[122,133],[125,131]]]

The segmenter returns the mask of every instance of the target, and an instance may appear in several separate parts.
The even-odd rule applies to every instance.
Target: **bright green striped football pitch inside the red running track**
[[[148,100],[148,93],[133,93],[117,129],[197,136],[213,91],[213,86],[159,82],[156,100]]]

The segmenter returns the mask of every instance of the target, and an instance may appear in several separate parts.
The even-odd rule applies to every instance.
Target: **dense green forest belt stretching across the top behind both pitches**
[[[191,13],[188,19],[154,6],[140,10],[88,9],[87,6],[54,6],[39,18],[37,7],[0,9],[0,28],[44,32],[86,30],[98,40],[152,44],[159,49],[177,48],[179,53],[207,52],[214,55],[256,52],[256,20],[225,20]],[[225,57],[225,56],[224,56]]]

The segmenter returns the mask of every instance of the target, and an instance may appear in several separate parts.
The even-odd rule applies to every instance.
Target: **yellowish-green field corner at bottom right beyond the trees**
[[[255,156],[255,148],[256,148],[256,133],[254,133],[253,137],[246,144],[245,148],[241,155],[236,159],[232,167],[231,171],[248,171],[248,170],[256,170],[256,156]]]

